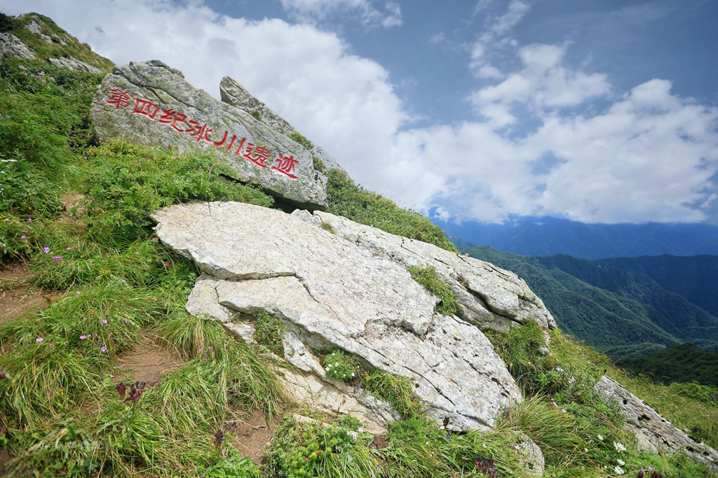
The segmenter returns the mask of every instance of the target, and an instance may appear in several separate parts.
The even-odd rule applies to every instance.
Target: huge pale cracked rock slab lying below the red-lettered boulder
[[[207,274],[188,310],[224,321],[235,312],[269,312],[286,326],[285,360],[322,382],[337,387],[317,351],[341,348],[373,368],[413,379],[429,416],[439,422],[448,416],[453,430],[490,429],[498,414],[521,401],[485,335],[435,313],[436,297],[404,264],[259,206],[184,204],[152,217],[162,242]],[[341,386],[372,408],[360,388]]]

